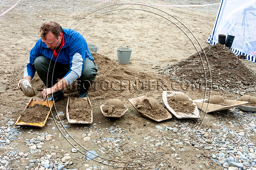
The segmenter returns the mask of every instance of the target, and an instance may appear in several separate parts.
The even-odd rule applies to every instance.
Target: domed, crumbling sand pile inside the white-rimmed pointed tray
[[[193,101],[189,100],[188,96],[182,93],[176,93],[173,96],[167,97],[167,102],[177,113],[193,114],[193,111],[195,110]]]

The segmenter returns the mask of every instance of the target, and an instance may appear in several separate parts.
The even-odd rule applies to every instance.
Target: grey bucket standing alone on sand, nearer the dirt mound
[[[129,47],[117,47],[117,62],[119,64],[129,64],[132,49]]]

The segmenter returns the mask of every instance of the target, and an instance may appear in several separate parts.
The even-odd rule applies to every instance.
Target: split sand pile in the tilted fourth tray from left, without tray
[[[134,103],[134,105],[141,113],[156,120],[168,117],[166,110],[154,98],[147,97],[141,102]]]

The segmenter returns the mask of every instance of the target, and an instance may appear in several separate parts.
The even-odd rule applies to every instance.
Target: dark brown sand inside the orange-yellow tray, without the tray
[[[46,105],[35,104],[28,106],[20,115],[19,122],[41,123],[45,121],[50,108]]]

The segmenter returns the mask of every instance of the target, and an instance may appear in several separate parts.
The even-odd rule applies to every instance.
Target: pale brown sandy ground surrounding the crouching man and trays
[[[204,1],[200,2],[201,4],[211,4],[218,3],[219,1]],[[1,10],[5,11],[11,7],[16,2],[11,0],[8,2],[1,2]],[[145,3],[145,2],[137,2]],[[178,1],[176,4],[188,4],[189,2]],[[184,7],[146,7],[141,5],[117,5],[108,6],[112,3],[103,3],[93,0],[77,0],[77,1],[34,1],[30,2],[28,0],[20,1],[19,4],[6,13],[0,18],[0,57],[2,59],[0,67],[0,113],[4,114],[4,118],[13,118],[17,119],[20,112],[25,108],[26,103],[30,100],[29,97],[23,95],[17,88],[17,83],[19,79],[23,78],[23,67],[28,60],[29,52],[34,46],[35,42],[39,39],[39,28],[42,22],[48,20],[55,20],[64,28],[72,28],[79,31],[87,40],[88,43],[98,45],[98,53],[105,55],[110,58],[117,64],[117,51],[116,47],[125,47],[129,46],[132,49],[132,57],[129,65],[118,65],[118,68],[123,69],[133,73],[129,78],[136,78],[142,80],[165,80],[168,79],[156,74],[155,70],[152,69],[152,66],[164,67],[169,64],[175,63],[181,59],[185,59],[188,56],[196,53],[196,49],[188,39],[188,37],[182,32],[182,29],[188,33],[188,36],[191,37],[195,46],[199,48],[200,45],[196,43],[195,38],[192,38],[192,34],[179,22],[177,19],[182,21],[197,37],[200,44],[203,47],[208,46],[208,43],[205,40],[211,34],[213,25],[215,23],[216,12],[218,10],[218,5],[207,6],[207,7],[196,7],[196,8],[184,8]],[[174,4],[167,0],[157,1],[149,0],[147,4]],[[102,8],[106,7],[106,8]],[[122,10],[120,9],[122,8]],[[128,9],[129,8],[129,9]],[[95,11],[97,10],[98,11]],[[118,9],[118,10],[117,10]],[[177,19],[172,16],[164,13],[164,10],[169,14],[177,17]],[[109,11],[108,11],[109,10]],[[112,10],[112,11],[111,11]],[[104,14],[101,14],[103,11],[108,11]],[[101,14],[101,15],[100,15]],[[158,15],[157,15],[158,14]],[[166,18],[162,18],[162,15]],[[175,22],[181,28],[178,28],[177,25],[173,24]],[[97,59],[95,60],[97,64]],[[246,61],[245,61],[246,62]],[[108,63],[105,65],[99,66],[99,71],[101,68],[107,69]],[[254,65],[250,62],[246,64],[255,69]],[[111,66],[113,67],[113,65]],[[125,75],[119,75],[120,69],[117,69],[116,72],[109,72],[108,75],[115,75],[118,79],[118,76],[127,80]],[[111,70],[111,69],[110,69]],[[113,71],[113,70],[112,70]],[[106,72],[104,72],[106,73]],[[121,72],[123,73],[123,72]],[[99,74],[99,77],[102,76]],[[104,74],[105,75],[105,74]],[[101,78],[103,78],[102,76]],[[114,79],[114,78],[113,78]],[[41,90],[43,89],[42,83],[35,76],[32,81],[32,85],[36,88],[36,96],[34,98],[40,99]],[[102,91],[101,91],[102,92]],[[187,93],[193,100],[200,99],[204,93],[202,91],[188,91]],[[143,138],[146,136],[157,136],[162,139],[162,136],[171,135],[170,133],[159,132],[156,130],[155,126],[160,125],[174,125],[176,120],[169,119],[164,122],[156,123],[147,118],[141,117],[139,113],[132,107],[127,99],[131,99],[138,96],[154,96],[158,101],[162,100],[162,90],[160,91],[107,91],[107,92],[90,92],[89,97],[93,105],[93,123],[96,123],[97,128],[109,128],[110,126],[117,126],[123,130],[127,130],[125,136],[132,136],[137,144],[132,143],[133,147],[135,145],[146,145],[147,148],[150,148],[148,144],[145,144]],[[235,99],[237,96],[224,93],[224,96]],[[100,105],[106,102],[110,98],[119,98],[124,101],[125,105],[128,107],[127,113],[124,117],[119,119],[108,119],[103,117],[100,112]],[[67,102],[67,96],[63,101],[56,103],[56,109],[58,111],[63,111],[65,113],[65,106]],[[13,114],[7,114],[8,111],[11,111]],[[53,113],[55,115],[55,113]],[[51,116],[50,116],[51,117]],[[210,123],[214,122],[216,116],[214,114],[207,115],[208,121],[204,124],[204,127],[210,128]],[[202,119],[202,118],[201,118]],[[200,119],[200,120],[201,120]],[[64,122],[67,120],[65,119]],[[187,120],[191,124],[196,124],[194,120]],[[102,122],[99,125],[99,122]],[[147,124],[147,125],[146,125]],[[56,126],[54,121],[49,119],[47,124],[42,129],[36,128],[24,128],[23,134],[20,135],[22,139],[16,139],[14,142],[18,143],[19,149],[27,151],[28,148],[24,145],[24,140],[26,138],[32,138],[31,135],[25,133],[30,129],[34,129],[36,132],[52,132],[56,133],[54,139],[55,142],[48,141],[45,142],[43,146],[45,149],[49,149],[50,146],[59,146],[59,150],[62,155],[65,153],[70,153],[72,155],[71,145],[66,145],[66,140],[64,137],[58,138],[59,132],[57,130],[52,131],[52,126]],[[78,129],[82,129],[82,133],[89,133],[89,129],[83,129],[85,125],[71,125],[71,128],[68,128],[68,131],[71,135],[82,145],[84,145],[89,150],[98,150],[98,145],[95,145],[93,142],[85,142],[81,138],[81,133]],[[89,124],[88,126],[93,126]],[[145,126],[147,128],[145,129]],[[95,129],[93,130],[95,131]],[[108,137],[110,134],[104,133],[104,137]],[[33,137],[36,137],[34,134]],[[92,139],[98,140],[99,137],[94,136]],[[163,145],[164,146],[164,145]],[[153,166],[149,166],[149,169],[155,169],[153,167],[159,166],[160,162],[166,163],[167,165],[175,165],[176,169],[199,169],[199,165],[202,165],[203,168],[206,168],[205,160],[196,159],[198,154],[210,154],[210,151],[197,151],[194,147],[186,147],[185,152],[179,156],[182,158],[183,163],[179,163],[177,159],[170,157],[170,154],[176,153],[170,151],[168,146],[160,147],[157,149],[157,152],[163,152],[163,157],[156,159],[156,162],[153,162]],[[107,147],[107,146],[104,146]],[[136,146],[137,147],[137,146]],[[63,149],[63,151],[62,151]],[[0,153],[3,151],[0,151]],[[137,155],[139,150],[133,150],[134,155]],[[156,153],[157,153],[156,152]],[[201,153],[200,153],[201,152]],[[131,153],[131,152],[130,152]],[[2,154],[2,153],[1,153]],[[34,159],[41,158],[44,153],[40,155],[34,154]],[[102,164],[99,164],[95,161],[86,161],[80,158],[81,153],[75,153],[72,155],[73,162],[75,163],[75,168],[84,169],[84,164],[89,165],[98,165],[101,167]],[[106,155],[105,155],[106,156]],[[157,154],[155,156],[158,156]],[[154,155],[153,155],[154,157]],[[110,157],[111,158],[111,157]],[[32,159],[32,156],[30,157]],[[125,160],[135,160],[135,157],[132,155],[124,155]],[[103,159],[104,160],[104,159]],[[217,169],[218,167],[213,165],[211,160],[208,160],[208,163],[212,165],[209,169]],[[29,164],[24,162],[23,164]],[[121,163],[122,164],[122,163]],[[152,163],[151,163],[152,164]],[[17,168],[17,162],[11,162],[11,167],[13,169]],[[125,164],[122,164],[125,165]],[[126,164],[127,165],[127,164]],[[112,166],[105,166],[106,169],[116,169]],[[152,168],[151,168],[152,167]],[[166,169],[170,167],[166,166]],[[22,169],[22,168],[20,168]],[[122,168],[119,168],[122,169]]]

